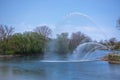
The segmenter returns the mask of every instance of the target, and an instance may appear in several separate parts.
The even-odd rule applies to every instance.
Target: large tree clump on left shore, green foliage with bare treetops
[[[40,26],[31,32],[14,33],[13,27],[0,25],[0,54],[42,54],[51,32],[49,27]]]

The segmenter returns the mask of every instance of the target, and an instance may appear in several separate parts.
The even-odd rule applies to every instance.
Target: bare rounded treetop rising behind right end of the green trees
[[[48,38],[52,33],[52,30],[47,26],[36,27],[34,31],[43,35],[45,38]]]

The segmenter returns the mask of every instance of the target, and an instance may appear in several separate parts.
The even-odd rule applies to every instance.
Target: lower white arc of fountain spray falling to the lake
[[[72,56],[70,57],[70,60],[91,60],[89,57],[94,51],[101,50],[101,49],[107,49],[106,46],[97,43],[97,42],[86,42],[83,44],[80,44],[74,51]]]

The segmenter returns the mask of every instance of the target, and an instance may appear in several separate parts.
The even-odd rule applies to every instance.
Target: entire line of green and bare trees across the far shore
[[[120,28],[120,19],[117,27]],[[73,52],[82,43],[93,42],[89,36],[80,31],[71,35],[66,32],[57,34],[55,39],[50,38],[51,34],[52,30],[48,26],[39,26],[33,31],[24,33],[14,33],[13,27],[0,25],[0,54],[43,54],[48,48],[55,48],[56,53],[65,54]],[[48,47],[50,42],[54,42],[54,45]],[[120,50],[120,41],[115,38],[101,40],[98,43],[107,46],[111,50]]]

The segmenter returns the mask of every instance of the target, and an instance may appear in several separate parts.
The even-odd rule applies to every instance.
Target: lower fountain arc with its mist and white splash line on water
[[[77,46],[77,48],[73,51],[73,53],[71,53],[71,55],[67,56],[66,60],[62,60],[58,58],[58,55],[56,55],[57,53],[54,53],[54,51],[52,52],[48,52],[47,53],[47,57],[45,57],[44,60],[42,60],[42,62],[81,62],[81,61],[95,61],[98,60],[98,58],[103,57],[104,55],[106,55],[107,53],[101,54],[101,55],[96,55],[98,54],[95,53],[95,51],[97,50],[105,50],[107,49],[106,46],[97,43],[97,42],[85,42],[80,44],[79,46]],[[92,58],[92,57],[93,58]]]

